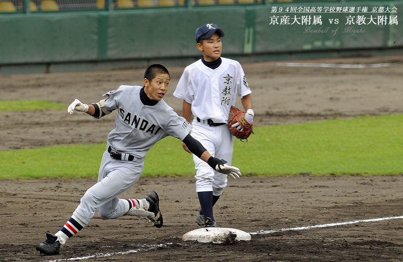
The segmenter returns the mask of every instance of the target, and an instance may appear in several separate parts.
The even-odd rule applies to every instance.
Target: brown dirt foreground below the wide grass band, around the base
[[[243,177],[230,181],[215,207],[219,226],[248,233],[403,215],[403,176]],[[122,198],[160,195],[161,229],[146,219],[97,214],[60,254],[35,245],[71,216],[93,180],[2,181],[0,261],[401,261],[402,219],[252,234],[229,244],[182,241],[195,223],[193,178],[141,178]],[[27,192],[29,192],[27,194]],[[119,253],[121,252],[121,253]],[[92,258],[83,259],[86,256]],[[60,259],[60,260],[55,260]],[[74,260],[73,260],[74,261]]]

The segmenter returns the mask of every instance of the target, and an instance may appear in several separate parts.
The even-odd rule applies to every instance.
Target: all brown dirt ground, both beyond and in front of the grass
[[[299,61],[320,67],[244,64],[253,91],[254,123],[402,113],[402,61],[367,57]],[[164,100],[180,114],[181,101],[172,93],[183,68],[169,71],[171,87]],[[67,107],[75,98],[94,102],[120,84],[140,84],[143,73],[0,76],[1,99],[44,99]],[[113,118],[97,121],[66,110],[0,113],[0,150],[101,143]],[[47,230],[60,229],[94,182],[0,181],[0,261],[401,261],[403,255],[403,176],[305,175],[229,182],[215,206],[216,220],[221,227],[251,233],[251,241],[182,241],[184,233],[197,228],[194,179],[143,177],[121,197],[142,198],[156,190],[164,227],[152,227],[142,218],[101,220],[95,215],[60,254],[39,255],[35,245]]]

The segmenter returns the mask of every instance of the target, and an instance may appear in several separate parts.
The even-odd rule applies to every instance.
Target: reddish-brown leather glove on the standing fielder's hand
[[[241,141],[244,139],[247,141],[247,138],[253,133],[253,125],[245,120],[245,113],[245,111],[242,111],[235,106],[231,106],[228,118],[228,127],[230,128],[231,134]],[[232,127],[232,125],[237,122],[242,128],[238,129],[237,127]]]

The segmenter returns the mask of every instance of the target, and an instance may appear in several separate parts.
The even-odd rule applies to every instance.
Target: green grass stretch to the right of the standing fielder
[[[403,174],[403,115],[259,128],[236,143],[234,165],[254,175]]]

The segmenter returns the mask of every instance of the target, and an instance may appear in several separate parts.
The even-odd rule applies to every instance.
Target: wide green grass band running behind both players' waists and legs
[[[403,115],[256,127],[234,144],[243,175],[403,174]],[[0,179],[96,177],[106,144],[0,152]],[[144,175],[193,176],[190,154],[168,137],[148,153]]]

